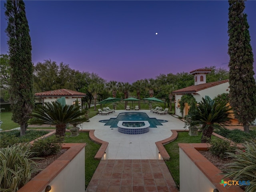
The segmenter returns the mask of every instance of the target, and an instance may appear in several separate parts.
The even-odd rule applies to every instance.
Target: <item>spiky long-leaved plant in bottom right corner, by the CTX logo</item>
[[[224,170],[224,178],[249,181],[245,192],[254,192],[256,189],[256,139],[246,141],[244,149],[236,149],[236,153],[227,153],[232,158],[227,170]]]

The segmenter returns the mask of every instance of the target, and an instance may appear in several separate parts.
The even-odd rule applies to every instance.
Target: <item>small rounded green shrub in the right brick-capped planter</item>
[[[218,138],[216,140],[212,140],[210,144],[211,146],[209,151],[220,158],[224,158],[226,156],[226,152],[231,152],[234,150],[234,147],[230,146],[230,142],[227,140]]]

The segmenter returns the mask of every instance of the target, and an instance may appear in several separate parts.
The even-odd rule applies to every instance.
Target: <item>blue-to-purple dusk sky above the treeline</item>
[[[8,53],[0,1],[0,53]],[[63,62],[107,81],[228,69],[228,1],[24,1],[32,62]],[[256,66],[256,1],[246,1]],[[158,33],[158,34],[156,34]]]

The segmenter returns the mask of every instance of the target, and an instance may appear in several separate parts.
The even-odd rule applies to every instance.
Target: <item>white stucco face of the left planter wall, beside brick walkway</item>
[[[52,192],[85,191],[85,150],[80,153],[50,182]],[[44,190],[42,191],[44,192]]]

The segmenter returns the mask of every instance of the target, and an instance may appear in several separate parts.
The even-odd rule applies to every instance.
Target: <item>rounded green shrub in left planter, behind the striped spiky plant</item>
[[[60,152],[62,141],[63,138],[59,136],[40,139],[34,142],[31,150],[36,153],[38,157],[53,155]]]

